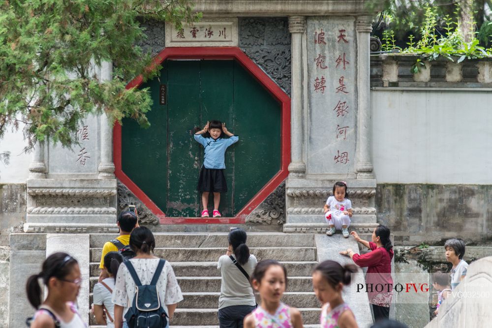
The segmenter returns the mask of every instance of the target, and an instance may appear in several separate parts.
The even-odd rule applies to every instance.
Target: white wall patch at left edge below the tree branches
[[[26,183],[32,158],[31,153],[23,151],[26,146],[22,129],[5,132],[0,140],[0,152],[10,151],[10,161],[8,165],[0,163],[0,183]]]

